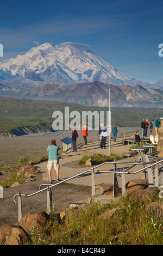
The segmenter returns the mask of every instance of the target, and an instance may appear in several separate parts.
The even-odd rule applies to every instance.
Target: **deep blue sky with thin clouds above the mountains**
[[[0,60],[51,42],[78,42],[124,74],[141,81],[163,78],[162,0],[1,2]]]

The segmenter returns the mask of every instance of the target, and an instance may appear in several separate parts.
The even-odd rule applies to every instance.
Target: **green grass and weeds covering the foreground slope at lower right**
[[[30,245],[162,245],[163,221],[146,200],[123,196],[116,205],[98,202],[54,216],[44,227],[33,229]],[[111,217],[102,218],[112,208]],[[161,209],[161,208],[160,208]]]

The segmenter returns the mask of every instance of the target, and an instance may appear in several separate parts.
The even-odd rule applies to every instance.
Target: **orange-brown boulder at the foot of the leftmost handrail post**
[[[26,214],[17,225],[20,225],[27,233],[30,233],[33,227],[36,228],[39,225],[45,224],[48,219],[49,215],[44,211],[39,214]]]

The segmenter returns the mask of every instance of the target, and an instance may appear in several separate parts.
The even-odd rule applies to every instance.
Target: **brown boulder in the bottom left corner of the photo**
[[[26,231],[16,225],[3,225],[0,227],[0,240],[2,245],[23,245],[29,241]]]

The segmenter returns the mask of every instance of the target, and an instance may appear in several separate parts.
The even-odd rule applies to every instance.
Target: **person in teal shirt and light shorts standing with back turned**
[[[48,159],[48,164],[47,164],[47,169],[48,169],[48,176],[49,176],[49,181],[52,184],[52,167],[54,165],[54,169],[56,170],[57,174],[57,181],[59,181],[59,159],[58,159],[58,150],[59,147],[56,145],[55,139],[52,139],[51,145],[47,147],[49,159]]]

